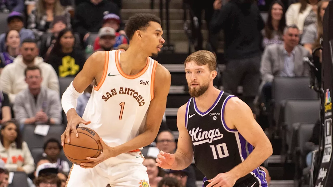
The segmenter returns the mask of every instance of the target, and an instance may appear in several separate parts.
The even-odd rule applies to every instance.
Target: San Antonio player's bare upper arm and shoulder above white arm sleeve
[[[87,59],[83,69],[73,81],[73,86],[77,92],[85,91],[95,79],[97,84],[101,84],[104,67],[108,63],[108,53],[108,51],[97,51]]]

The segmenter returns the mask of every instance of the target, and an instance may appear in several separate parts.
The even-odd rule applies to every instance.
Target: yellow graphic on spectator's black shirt
[[[75,59],[71,56],[65,56],[62,59],[62,65],[59,66],[59,77],[67,77],[69,75],[76,75],[80,66],[75,64]]]

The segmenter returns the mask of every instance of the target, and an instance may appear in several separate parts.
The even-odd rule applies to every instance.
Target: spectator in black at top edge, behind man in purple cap
[[[102,20],[106,14],[114,13],[120,15],[118,6],[106,0],[90,0],[76,7],[73,27],[80,34],[81,39],[86,42],[91,32],[97,33],[102,27]],[[94,15],[94,16],[91,16]],[[120,23],[119,33],[125,34],[124,24]]]

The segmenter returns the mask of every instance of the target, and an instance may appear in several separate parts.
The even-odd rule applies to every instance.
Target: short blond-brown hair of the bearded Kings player
[[[184,65],[186,66],[186,63],[190,61],[194,61],[199,66],[205,66],[206,64],[208,64],[208,68],[210,71],[216,70],[216,58],[214,54],[210,51],[200,50],[190,54],[186,58]]]

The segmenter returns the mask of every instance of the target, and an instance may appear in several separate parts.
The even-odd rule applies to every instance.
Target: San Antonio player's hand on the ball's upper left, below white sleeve
[[[71,108],[67,112],[67,127],[65,132],[61,135],[61,145],[64,146],[65,140],[67,139],[67,143],[70,142],[70,135],[69,133],[73,129],[75,136],[79,137],[78,131],[76,130],[76,126],[80,123],[88,125],[91,121],[86,121],[82,117],[80,117],[74,108]]]

